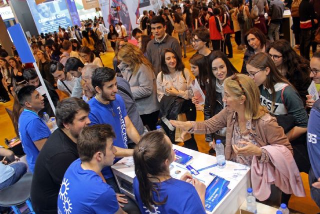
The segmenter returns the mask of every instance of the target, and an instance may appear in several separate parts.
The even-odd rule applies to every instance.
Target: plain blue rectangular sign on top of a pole
[[[15,46],[15,49],[19,54],[21,62],[34,63],[35,60],[33,54],[28,42],[26,41],[21,25],[18,23],[12,27],[9,27],[7,30]]]

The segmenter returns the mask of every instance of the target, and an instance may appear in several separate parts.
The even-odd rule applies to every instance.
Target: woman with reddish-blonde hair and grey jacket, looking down
[[[130,84],[136,107],[143,122],[155,130],[159,115],[156,97],[156,79],[151,63],[134,45],[125,43],[118,52],[121,63],[118,68],[123,78]]]

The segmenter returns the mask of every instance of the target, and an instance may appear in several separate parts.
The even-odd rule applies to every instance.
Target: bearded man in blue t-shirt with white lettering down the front
[[[113,69],[106,67],[97,68],[92,73],[91,84],[96,91],[95,96],[88,102],[90,106],[89,119],[91,125],[111,125],[115,133],[115,139],[113,141],[117,150],[115,156],[132,156],[133,150],[127,149],[127,137],[134,143],[137,143],[140,140],[140,135],[126,114],[122,98],[116,94],[117,81],[115,72]],[[115,159],[114,162],[118,160],[119,159]],[[119,192],[110,167],[104,167],[101,172],[106,182],[111,185],[116,192]],[[125,205],[124,211],[128,209],[130,213],[135,213],[132,209],[136,209],[136,213],[139,212],[138,207],[133,201],[129,199],[127,202],[126,199],[118,198],[119,202],[128,203]],[[132,207],[130,207],[131,205]]]

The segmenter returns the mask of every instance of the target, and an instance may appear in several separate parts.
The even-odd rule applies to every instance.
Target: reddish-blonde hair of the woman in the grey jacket
[[[132,74],[136,74],[141,65],[153,70],[151,63],[143,56],[143,53],[130,43],[124,43],[118,52],[118,59],[129,66]]]

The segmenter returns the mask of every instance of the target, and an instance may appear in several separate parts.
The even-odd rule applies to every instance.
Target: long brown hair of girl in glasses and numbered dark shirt
[[[286,83],[294,89],[293,85],[278,71],[269,54],[259,52],[249,58],[247,65],[253,66],[254,68],[261,70],[265,68],[270,69],[270,72],[266,77],[265,87],[271,90],[272,106],[275,102],[274,85],[276,83]]]

